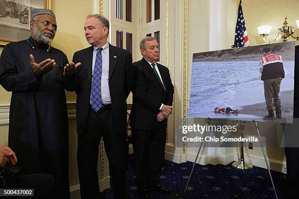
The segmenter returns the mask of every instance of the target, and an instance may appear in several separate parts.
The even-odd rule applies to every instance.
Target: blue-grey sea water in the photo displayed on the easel
[[[283,62],[285,78],[280,93],[294,90],[294,64],[294,61]],[[214,118],[215,107],[240,110],[245,105],[265,102],[259,68],[259,61],[193,62],[189,117]],[[255,118],[253,115],[242,118],[246,117]]]

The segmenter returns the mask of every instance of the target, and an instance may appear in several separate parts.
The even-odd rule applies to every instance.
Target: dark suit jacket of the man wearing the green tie
[[[149,62],[144,58],[133,63],[133,107],[131,110],[130,125],[133,128],[155,130],[158,127],[157,114],[161,103],[172,105],[173,85],[167,67],[157,63],[163,85],[158,80]],[[167,124],[167,119],[162,121]]]

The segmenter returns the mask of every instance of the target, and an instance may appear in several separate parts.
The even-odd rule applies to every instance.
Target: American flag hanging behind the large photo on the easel
[[[235,24],[235,46],[236,45],[238,45],[239,47],[249,46],[249,40],[242,11],[242,0],[240,0],[238,20]]]

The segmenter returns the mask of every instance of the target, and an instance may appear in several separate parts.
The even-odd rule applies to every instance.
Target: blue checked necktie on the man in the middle
[[[102,79],[102,54],[103,48],[97,49],[97,56],[93,69],[91,85],[91,108],[98,112],[102,107],[101,79]]]

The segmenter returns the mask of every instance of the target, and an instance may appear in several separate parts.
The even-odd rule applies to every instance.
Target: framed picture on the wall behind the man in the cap
[[[50,0],[0,0],[0,45],[30,36],[30,14],[35,8],[50,9]]]

